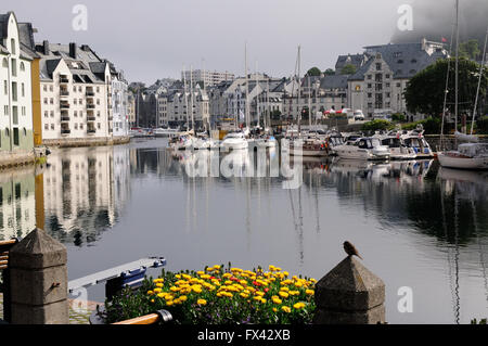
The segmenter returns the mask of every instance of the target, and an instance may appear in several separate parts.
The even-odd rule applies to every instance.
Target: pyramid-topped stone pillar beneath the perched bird
[[[385,284],[358,259],[347,257],[316,284],[314,324],[385,322]]]

